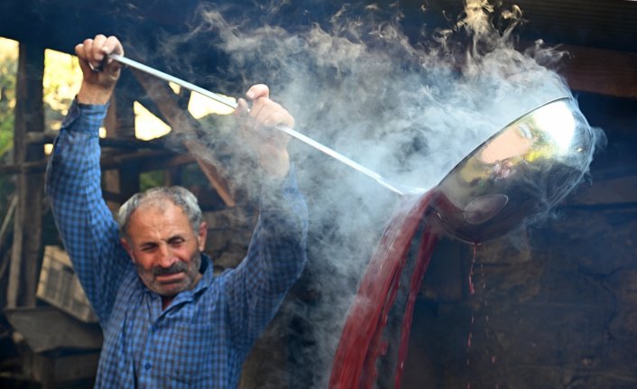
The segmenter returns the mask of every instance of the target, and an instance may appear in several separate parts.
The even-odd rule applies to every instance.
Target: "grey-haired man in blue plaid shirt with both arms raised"
[[[60,236],[104,330],[98,388],[231,388],[254,341],[305,264],[307,209],[285,139],[261,136],[294,120],[257,85],[239,111],[260,136],[260,216],[245,260],[213,276],[207,226],[182,188],[137,194],[119,225],[100,188],[98,128],[119,78],[115,37],[76,46],[81,88],[54,144],[47,193]],[[101,71],[98,69],[103,67]]]

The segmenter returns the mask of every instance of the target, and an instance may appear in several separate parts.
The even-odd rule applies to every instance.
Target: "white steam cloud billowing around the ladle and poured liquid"
[[[522,21],[515,6],[495,10],[486,1],[467,1],[448,29],[423,29],[423,42],[402,32],[404,15],[392,7],[344,5],[328,26],[293,31],[226,17],[230,11],[202,5],[191,32],[171,37],[165,55],[183,42],[210,37],[226,53],[242,90],[269,84],[272,99],[295,116],[298,131],[398,184],[435,186],[504,125],[549,100],[572,96],[552,69],[564,52],[542,42],[526,51],[514,48],[513,32]],[[272,16],[279,10],[265,11]],[[423,10],[423,21],[426,15]],[[218,91],[237,90],[227,79],[208,82]],[[326,387],[357,282],[397,196],[305,144],[292,140],[290,148],[309,201],[306,282],[315,298],[310,307],[292,301],[285,309],[300,318],[304,336],[314,343],[300,351],[300,363],[315,373],[313,387]],[[228,163],[241,181],[236,177],[245,159]]]

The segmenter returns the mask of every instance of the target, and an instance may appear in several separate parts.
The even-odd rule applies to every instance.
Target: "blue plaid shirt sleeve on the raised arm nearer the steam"
[[[226,292],[235,344],[245,352],[282,304],[307,260],[308,210],[292,166],[263,185],[260,214],[244,261],[229,271]]]

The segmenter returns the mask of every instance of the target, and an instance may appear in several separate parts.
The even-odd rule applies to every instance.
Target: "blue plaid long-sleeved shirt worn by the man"
[[[293,171],[270,182],[245,260],[203,276],[162,310],[119,242],[100,187],[106,106],[74,102],[47,169],[60,236],[104,331],[97,388],[232,388],[245,357],[306,261],[307,208]]]

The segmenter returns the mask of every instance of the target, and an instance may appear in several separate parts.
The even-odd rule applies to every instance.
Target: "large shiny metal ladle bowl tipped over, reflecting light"
[[[469,243],[503,236],[546,213],[581,180],[595,134],[559,98],[506,125],[432,189],[428,222]]]

